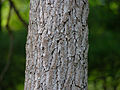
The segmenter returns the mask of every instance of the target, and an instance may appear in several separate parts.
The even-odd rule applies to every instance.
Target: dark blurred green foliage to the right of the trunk
[[[114,86],[120,85],[120,1],[100,2],[100,0],[90,1],[89,82],[96,80],[100,82],[105,78],[106,87],[108,90],[113,90]],[[96,86],[99,86],[99,83]],[[90,88],[90,90],[94,89]]]

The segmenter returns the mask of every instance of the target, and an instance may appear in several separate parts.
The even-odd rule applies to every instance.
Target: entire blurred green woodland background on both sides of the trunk
[[[0,90],[23,90],[29,0],[0,7]],[[89,0],[89,7],[88,90],[120,90],[120,0]]]

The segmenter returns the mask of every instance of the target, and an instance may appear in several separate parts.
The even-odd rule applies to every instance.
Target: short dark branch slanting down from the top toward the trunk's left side
[[[25,22],[25,20],[23,20],[23,18],[20,16],[20,13],[18,12],[17,8],[15,7],[15,4],[12,0],[9,0],[11,6],[13,7],[16,15],[18,16],[18,18],[20,19],[20,21],[23,23],[23,25],[27,28],[28,24]]]

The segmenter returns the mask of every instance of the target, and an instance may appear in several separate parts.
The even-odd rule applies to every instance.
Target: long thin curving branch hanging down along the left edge
[[[12,53],[13,53],[13,34],[12,34],[12,31],[9,27],[9,21],[10,21],[10,17],[11,17],[11,10],[12,10],[12,7],[10,5],[10,10],[9,10],[9,15],[8,15],[8,19],[7,19],[7,24],[6,24],[6,28],[8,30],[8,34],[9,34],[9,37],[10,37],[10,45],[9,45],[9,51],[8,51],[8,60],[7,60],[7,63],[3,69],[3,71],[1,72],[0,74],[0,83],[2,82],[4,76],[5,76],[5,73],[8,71],[8,68],[10,66],[10,61],[11,61],[11,57],[12,57]]]

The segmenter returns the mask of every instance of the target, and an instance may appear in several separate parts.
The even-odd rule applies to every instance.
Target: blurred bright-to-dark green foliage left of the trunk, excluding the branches
[[[29,1],[14,0],[14,4],[19,11],[21,17],[28,22],[29,16]],[[25,8],[26,7],[26,8]],[[6,28],[7,17],[10,10],[8,0],[2,3],[1,8],[1,26],[0,32],[0,74],[8,62],[10,35]],[[24,87],[24,72],[25,72],[25,43],[27,30],[18,18],[14,9],[11,11],[9,27],[13,33],[13,51],[10,59],[10,65],[7,72],[4,74],[3,81],[0,83],[1,90],[23,90]]]

